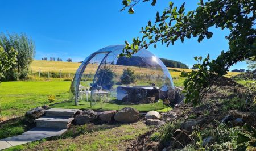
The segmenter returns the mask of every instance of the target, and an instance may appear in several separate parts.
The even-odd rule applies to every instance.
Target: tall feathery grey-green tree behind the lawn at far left
[[[1,33],[0,46],[5,52],[14,49],[18,52],[15,65],[3,73],[1,81],[17,81],[26,79],[28,69],[35,57],[35,43],[24,33]]]

